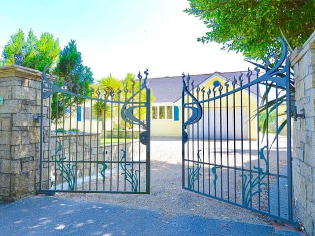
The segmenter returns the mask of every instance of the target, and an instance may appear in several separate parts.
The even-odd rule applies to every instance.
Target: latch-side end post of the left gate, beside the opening
[[[151,152],[151,89],[147,89],[147,102],[146,102],[146,107],[147,107],[147,160],[146,160],[146,193],[150,193],[150,185],[151,185],[151,177],[150,177],[150,152]]]

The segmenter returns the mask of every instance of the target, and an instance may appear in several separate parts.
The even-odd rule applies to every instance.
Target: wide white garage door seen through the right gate
[[[227,110],[227,114],[226,114]],[[209,119],[208,119],[209,118]],[[203,124],[204,119],[204,124]],[[243,107],[243,120],[241,119],[241,107],[235,107],[235,126],[234,126],[234,112],[233,107],[221,108],[221,120],[220,120],[220,108],[204,108],[203,117],[198,123],[189,126],[189,138],[199,139],[220,139],[222,130],[222,139],[234,139],[234,129],[235,129],[235,139],[242,139],[242,122],[243,122],[243,139],[247,139],[247,109]],[[216,123],[216,125],[215,125]],[[210,124],[210,127],[208,127]],[[216,132],[215,132],[216,131]],[[228,132],[227,132],[228,131]],[[228,136],[228,137],[227,137]]]

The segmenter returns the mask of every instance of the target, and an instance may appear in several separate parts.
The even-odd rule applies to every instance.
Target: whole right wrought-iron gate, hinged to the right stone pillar
[[[294,80],[281,43],[280,59],[267,60],[264,68],[256,64],[246,76],[218,79],[211,88],[195,87],[183,74],[182,185],[295,224],[290,119]]]

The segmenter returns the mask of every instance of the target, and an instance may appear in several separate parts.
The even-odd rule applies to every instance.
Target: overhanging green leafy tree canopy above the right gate
[[[315,30],[314,0],[189,0],[189,15],[210,29],[197,39],[222,43],[223,50],[242,52],[248,59],[265,59],[281,50],[303,45]]]

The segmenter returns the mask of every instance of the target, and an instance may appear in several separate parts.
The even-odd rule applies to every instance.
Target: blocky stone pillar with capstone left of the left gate
[[[15,201],[39,186],[41,73],[0,67],[0,200]],[[47,111],[47,110],[46,110]]]

